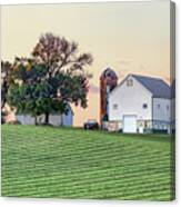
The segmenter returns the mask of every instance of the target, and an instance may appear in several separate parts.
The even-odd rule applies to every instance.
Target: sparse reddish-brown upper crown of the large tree
[[[72,75],[82,71],[84,66],[92,63],[90,53],[78,55],[78,43],[66,38],[46,33],[36,45],[32,56],[38,62],[48,67],[47,77],[54,77],[60,71]]]

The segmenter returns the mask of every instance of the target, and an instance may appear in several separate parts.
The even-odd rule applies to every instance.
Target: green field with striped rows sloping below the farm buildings
[[[2,196],[174,198],[173,138],[2,126]]]

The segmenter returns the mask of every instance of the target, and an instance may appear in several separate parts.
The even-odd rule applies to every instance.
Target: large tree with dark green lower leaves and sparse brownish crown
[[[68,105],[86,108],[91,65],[90,53],[78,55],[78,45],[51,33],[42,36],[33,49],[32,58],[16,58],[9,102],[21,112],[37,117],[52,111],[67,112]]]

